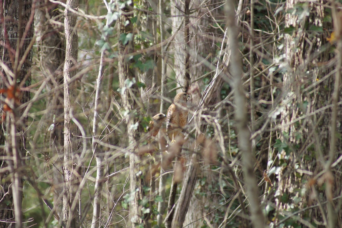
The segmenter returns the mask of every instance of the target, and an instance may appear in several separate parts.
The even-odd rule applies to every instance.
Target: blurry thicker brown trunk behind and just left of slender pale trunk
[[[65,59],[65,41],[61,37],[59,29],[50,23],[50,19],[55,20],[59,13],[55,11],[57,4],[44,4],[45,1],[38,1],[35,10],[35,35],[38,44],[38,67],[42,74],[42,80],[47,79],[46,90],[49,91],[63,84],[63,65]],[[57,213],[62,211],[63,186],[63,146],[64,146],[64,94],[62,90],[55,90],[52,96],[47,96],[46,115],[44,122],[50,126],[50,137],[47,138],[50,151],[47,157],[54,161],[51,166],[52,175],[49,177],[54,186],[54,207]],[[37,132],[39,134],[42,132]],[[45,133],[45,132],[43,132]]]

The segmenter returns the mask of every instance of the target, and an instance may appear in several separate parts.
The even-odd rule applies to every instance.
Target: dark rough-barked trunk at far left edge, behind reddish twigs
[[[32,1],[0,1],[1,45],[0,66],[2,89],[10,89],[9,93],[17,93],[17,89],[31,84],[33,12]],[[25,55],[25,52],[27,55]],[[20,63],[22,61],[22,64]],[[17,83],[18,82],[18,83]],[[30,99],[28,91],[14,95],[24,104]],[[25,175],[27,117],[22,116],[24,110],[18,110],[14,99],[7,99],[10,110],[2,103],[2,125],[0,133],[0,227],[23,226],[22,196]],[[21,118],[21,121],[19,121]],[[4,127],[4,128],[3,128]],[[10,135],[8,135],[10,134]],[[5,136],[8,135],[8,136]],[[6,145],[5,148],[3,145]],[[9,159],[3,159],[6,156]],[[11,186],[11,188],[10,188]],[[2,222],[3,221],[3,222]]]

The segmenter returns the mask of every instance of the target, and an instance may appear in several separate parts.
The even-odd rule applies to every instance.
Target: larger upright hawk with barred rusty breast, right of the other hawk
[[[187,93],[178,93],[173,100],[173,103],[168,108],[166,119],[166,131],[171,143],[174,142],[177,135],[182,132],[186,122],[188,121],[188,111],[180,106],[186,108],[186,101],[190,96]]]

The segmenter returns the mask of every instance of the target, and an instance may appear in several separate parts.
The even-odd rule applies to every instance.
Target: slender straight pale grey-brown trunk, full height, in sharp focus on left
[[[77,127],[73,121],[73,104],[76,102],[76,81],[70,81],[76,75],[78,56],[77,15],[69,8],[77,9],[78,0],[68,0],[64,13],[66,55],[64,64],[64,194],[63,223],[66,227],[76,227],[79,217],[75,202],[78,180],[75,175],[75,155],[77,153]]]

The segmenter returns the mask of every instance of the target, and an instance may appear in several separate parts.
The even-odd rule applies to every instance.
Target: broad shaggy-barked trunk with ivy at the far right
[[[333,9],[335,8],[332,5]],[[337,126],[341,126],[341,118],[337,118],[337,100],[340,92],[341,47],[336,50],[336,77],[326,77],[334,69],[330,64],[325,64],[333,59],[330,50],[326,49],[327,36],[325,33],[316,33],[314,29],[332,30],[331,22],[324,22],[324,7],[316,2],[305,3],[302,1],[286,1],[286,27],[291,33],[286,34],[285,51],[287,72],[284,74],[284,91],[282,102],[285,109],[281,114],[282,135],[280,140],[287,145],[286,149],[279,151],[279,158],[283,161],[278,175],[279,185],[276,193],[276,205],[278,222],[286,226],[290,223],[283,220],[282,216],[305,208],[313,202],[327,204],[309,212],[309,215],[298,214],[298,221],[315,225],[324,223],[326,227],[341,227],[341,210],[335,209],[333,198],[340,195],[341,178],[331,169],[331,164],[336,161],[335,151],[342,148],[341,142],[336,140]],[[302,14],[291,13],[293,9],[302,10]],[[340,21],[340,16],[334,18]],[[335,14],[336,15],[336,14]],[[307,27],[310,25],[310,27]],[[339,26],[334,26],[334,32]],[[313,29],[314,28],[314,29]],[[338,39],[338,43],[340,40]],[[334,62],[333,62],[334,63]],[[318,82],[318,83],[317,83]],[[332,86],[334,85],[334,86]],[[315,92],[310,92],[310,88]],[[317,112],[332,104],[329,111]],[[329,109],[328,109],[329,110]],[[306,116],[307,115],[307,116]],[[302,120],[296,120],[300,117]],[[311,148],[308,145],[314,145]],[[330,151],[330,152],[329,152]],[[312,165],[315,163],[315,165]],[[306,174],[301,170],[312,173],[309,181],[313,184],[307,187],[304,184]],[[322,175],[323,174],[323,175]],[[311,179],[312,178],[312,179]],[[318,183],[325,183],[325,191],[320,189]],[[336,186],[332,188],[332,183]],[[305,192],[305,193],[304,193]],[[302,194],[307,197],[302,197]],[[296,202],[294,199],[300,199]],[[327,205],[327,206],[326,206]],[[337,214],[339,213],[339,214]],[[304,221],[302,218],[309,217]],[[308,225],[305,224],[305,225]]]

